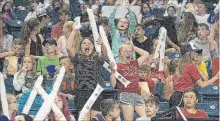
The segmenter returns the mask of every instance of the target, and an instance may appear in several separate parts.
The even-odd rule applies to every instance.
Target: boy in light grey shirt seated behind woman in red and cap
[[[202,49],[202,58],[207,61],[210,59],[210,50],[209,50],[209,27],[208,25],[201,23],[198,27],[198,37],[190,41],[190,44],[193,45],[195,49]]]

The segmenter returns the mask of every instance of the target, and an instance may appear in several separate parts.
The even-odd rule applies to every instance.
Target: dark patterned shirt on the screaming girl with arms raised
[[[96,54],[87,58],[82,54],[76,54],[72,59],[75,68],[75,89],[95,90],[99,83],[103,87],[102,66],[104,59]]]

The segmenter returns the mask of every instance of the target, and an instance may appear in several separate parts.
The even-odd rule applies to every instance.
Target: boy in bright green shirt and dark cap
[[[54,39],[48,38],[47,40],[44,40],[43,46],[45,49],[45,56],[41,56],[38,59],[37,72],[47,77],[49,76],[47,70],[54,71],[54,66],[59,66],[59,57],[56,55],[57,42]]]

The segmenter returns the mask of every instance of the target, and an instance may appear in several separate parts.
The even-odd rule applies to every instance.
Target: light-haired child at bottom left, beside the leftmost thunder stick
[[[14,120],[15,112],[18,110],[18,103],[17,99],[13,94],[7,94],[7,101],[8,101],[8,112],[10,120]]]

